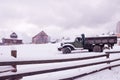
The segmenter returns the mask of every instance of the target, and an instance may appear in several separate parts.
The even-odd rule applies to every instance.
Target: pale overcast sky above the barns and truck
[[[0,34],[24,38],[44,30],[53,37],[115,31],[120,0],[0,0]]]

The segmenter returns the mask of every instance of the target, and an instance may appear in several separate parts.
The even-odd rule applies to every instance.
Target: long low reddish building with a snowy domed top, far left
[[[22,40],[21,39],[17,39],[18,36],[15,32],[13,32],[10,35],[10,38],[3,38],[2,39],[2,43],[5,45],[11,45],[11,44],[22,44]]]

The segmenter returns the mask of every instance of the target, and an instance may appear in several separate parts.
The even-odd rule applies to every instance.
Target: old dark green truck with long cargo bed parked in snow
[[[74,42],[64,42],[58,48],[63,53],[71,53],[77,49],[87,49],[89,52],[103,52],[104,48],[113,48],[117,43],[116,36],[104,36],[104,37],[85,37],[84,34],[81,37],[76,37]]]

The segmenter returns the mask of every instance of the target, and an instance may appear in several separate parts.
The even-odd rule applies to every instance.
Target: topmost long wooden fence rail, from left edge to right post
[[[29,61],[5,61],[0,62],[0,66],[6,65],[26,65],[26,64],[43,64],[43,63],[57,63],[57,62],[68,62],[68,61],[79,61],[79,60],[87,60],[94,58],[107,57],[107,54],[97,55],[97,56],[89,56],[82,58],[69,58],[69,59],[53,59],[53,60],[29,60]]]

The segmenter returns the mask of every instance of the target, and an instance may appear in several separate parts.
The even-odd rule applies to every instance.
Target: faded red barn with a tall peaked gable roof
[[[41,31],[32,38],[32,43],[34,44],[44,44],[48,42],[49,42],[49,36],[44,31]]]

